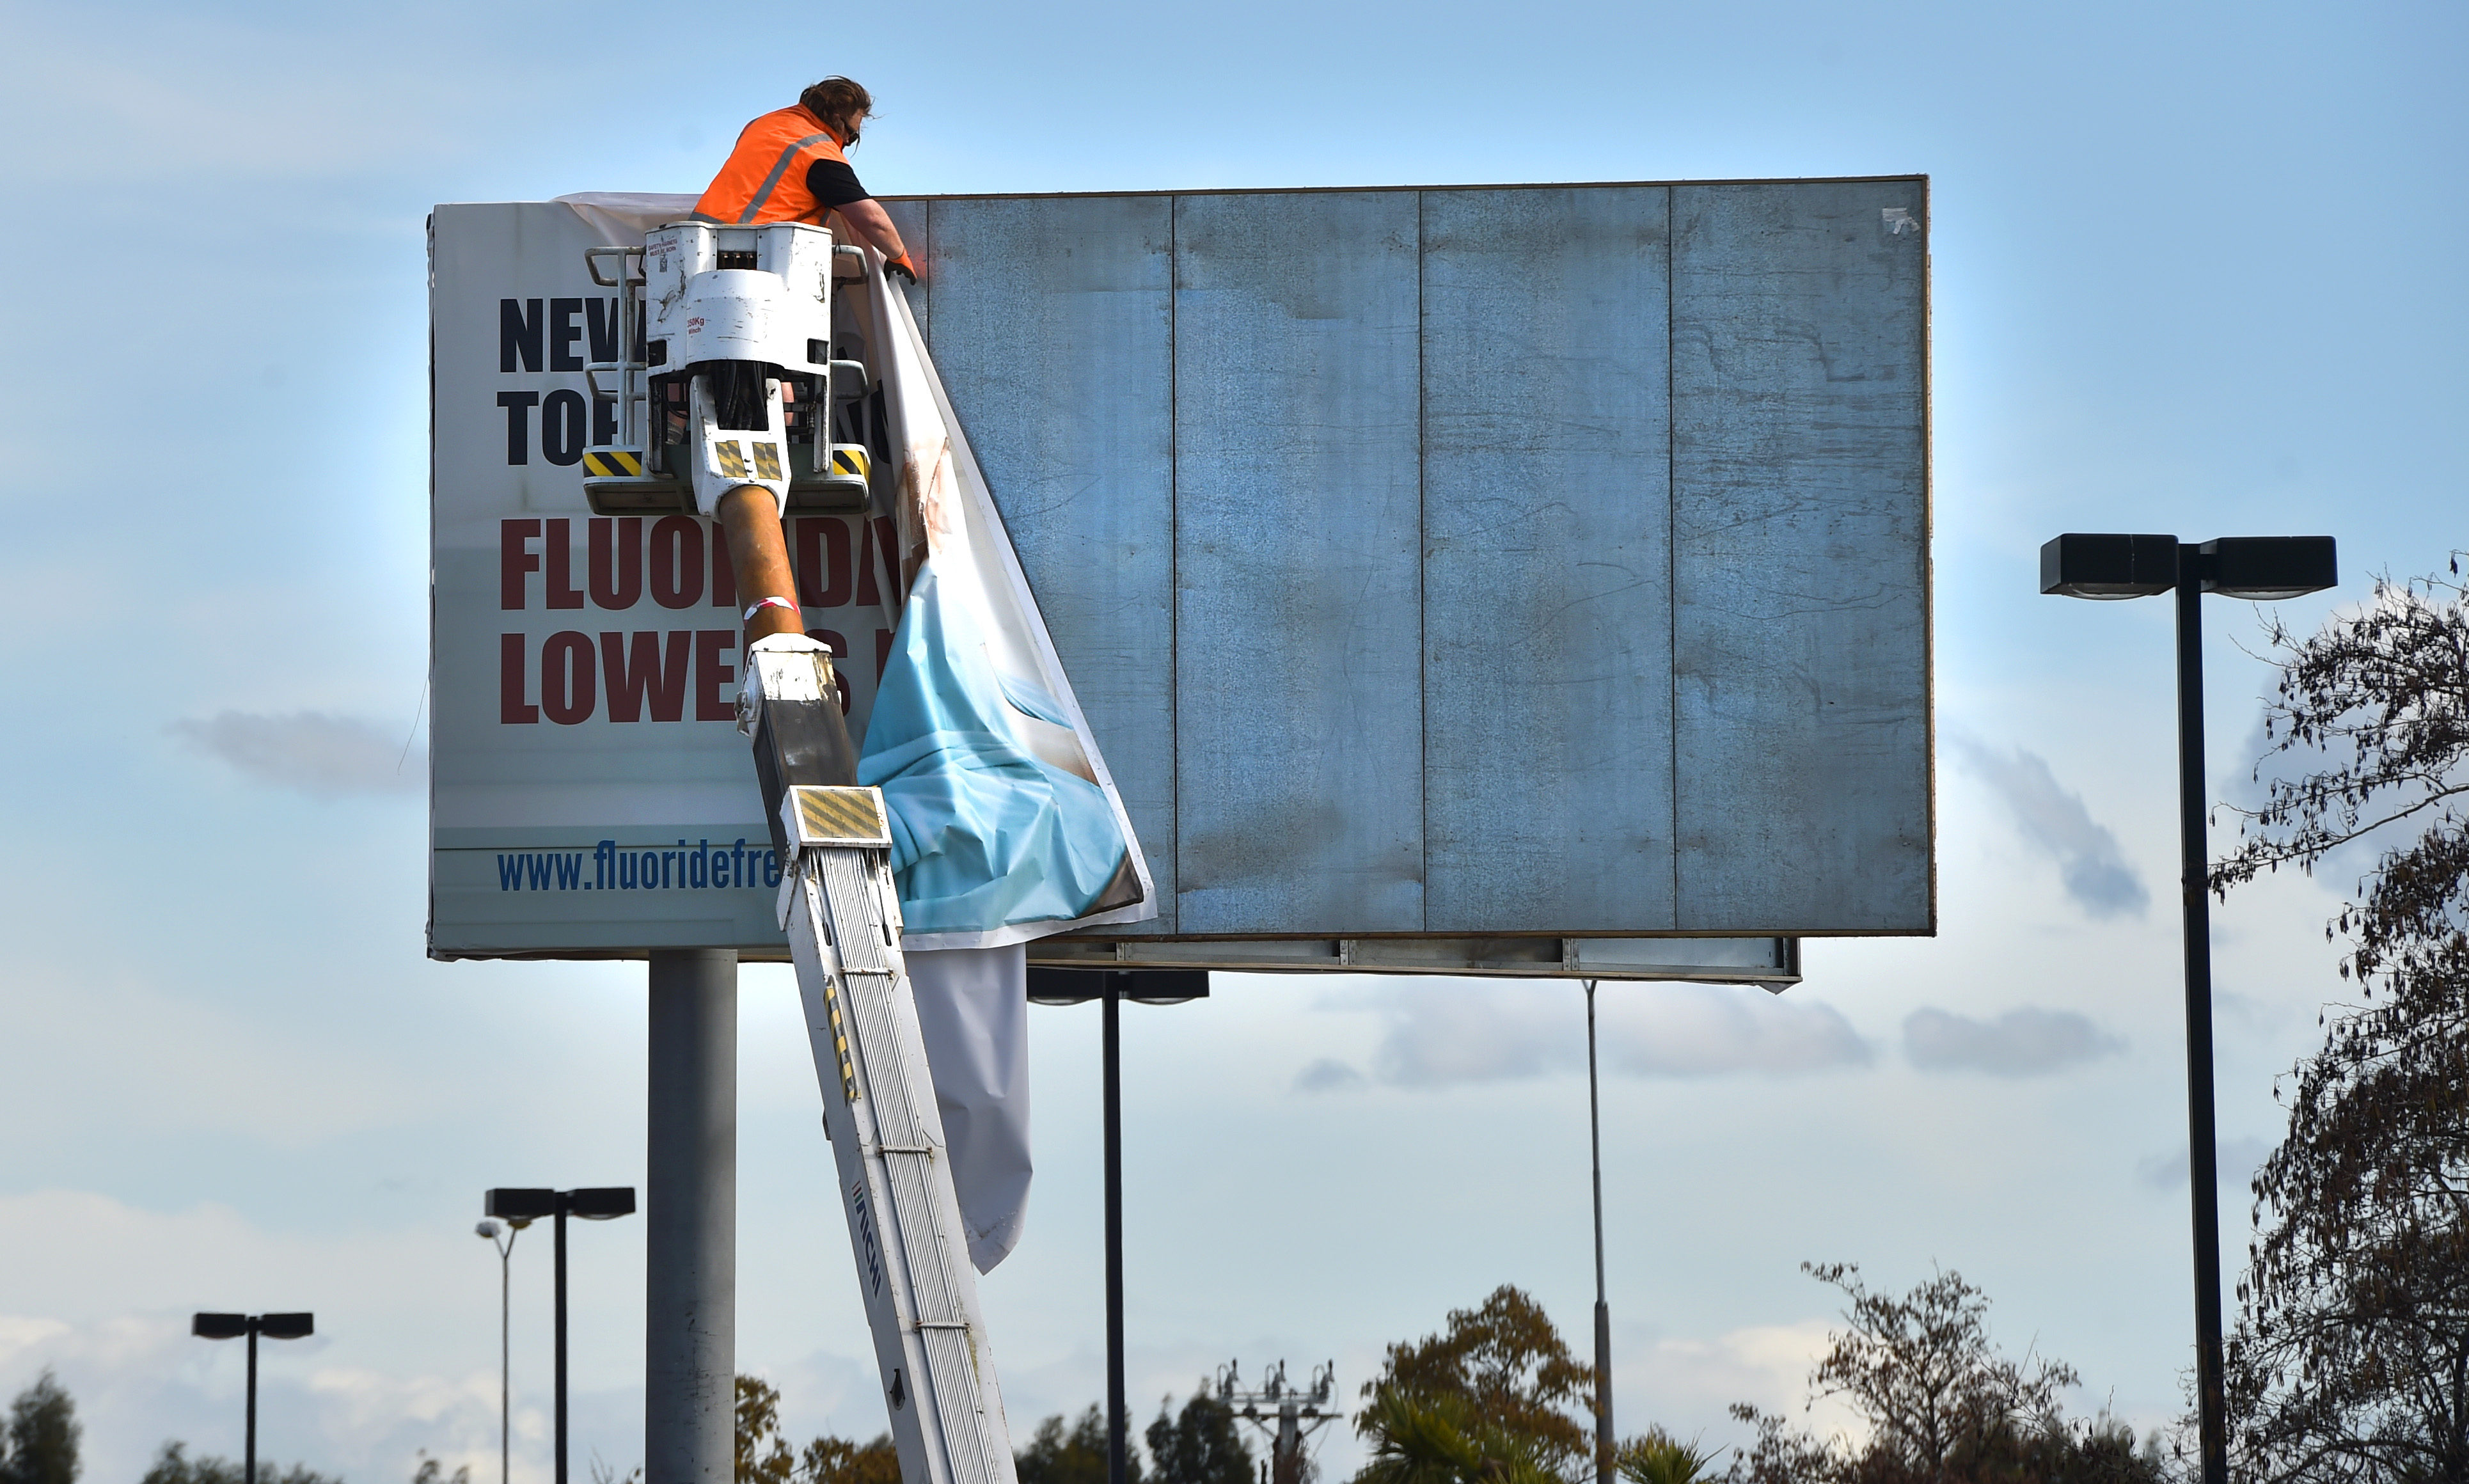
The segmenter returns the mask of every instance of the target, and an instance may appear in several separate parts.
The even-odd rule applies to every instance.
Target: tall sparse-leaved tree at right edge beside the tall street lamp
[[[2289,1136],[2254,1173],[2227,1353],[2249,1479],[2469,1479],[2469,590],[2378,580],[2296,637],[2264,714],[2264,802],[2212,889],[2375,852],[2326,936],[2348,938]],[[2257,765],[2257,778],[2264,765]],[[2346,857],[2343,857],[2346,859]],[[2281,1091],[2279,1086],[2274,1091]]]

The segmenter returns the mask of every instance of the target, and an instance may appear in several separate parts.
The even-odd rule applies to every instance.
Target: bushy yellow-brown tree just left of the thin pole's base
[[[1373,1405],[1355,1432],[1373,1442],[1373,1467],[1407,1467],[1422,1454],[1395,1449],[1454,1435],[1449,1447],[1474,1447],[1486,1469],[1531,1464],[1563,1477],[1585,1472],[1595,1447],[1578,1420],[1595,1412],[1595,1368],[1568,1353],[1541,1304],[1506,1284],[1474,1309],[1452,1309],[1442,1333],[1390,1346],[1363,1395]],[[1437,1457],[1412,1467],[1437,1467]]]

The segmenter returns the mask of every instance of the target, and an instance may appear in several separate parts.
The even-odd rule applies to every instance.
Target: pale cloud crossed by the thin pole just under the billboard
[[[1373,1074],[1390,1086],[1516,1082],[1585,1069],[1575,985],[1385,985]],[[1788,1077],[1862,1067],[1869,1044],[1832,1005],[1738,985],[1605,985],[1602,1064],[1625,1077]]]

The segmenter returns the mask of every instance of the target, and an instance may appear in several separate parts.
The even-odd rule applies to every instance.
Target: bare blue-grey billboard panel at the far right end
[[[1681,928],[1933,926],[1926,205],[1672,188]]]

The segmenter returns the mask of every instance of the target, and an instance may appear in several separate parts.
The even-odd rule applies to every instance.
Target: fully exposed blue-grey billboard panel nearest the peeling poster
[[[1175,202],[1185,933],[1425,926],[1415,207]]]

